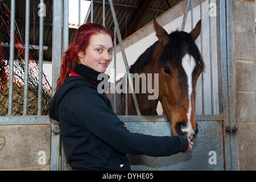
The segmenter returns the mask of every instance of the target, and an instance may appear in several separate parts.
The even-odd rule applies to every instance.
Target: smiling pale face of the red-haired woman
[[[85,54],[79,52],[79,64],[84,64],[94,70],[104,73],[112,61],[113,43],[108,34],[92,35]]]

